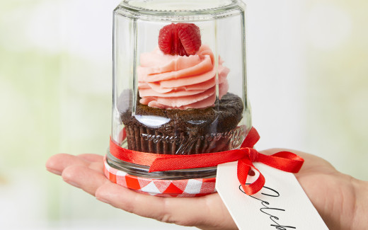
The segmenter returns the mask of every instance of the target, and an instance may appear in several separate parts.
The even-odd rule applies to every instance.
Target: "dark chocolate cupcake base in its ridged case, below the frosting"
[[[121,97],[122,98],[122,97]],[[202,154],[236,149],[243,139],[241,98],[226,93],[217,106],[165,110],[137,103],[121,113],[127,148],[154,154]]]

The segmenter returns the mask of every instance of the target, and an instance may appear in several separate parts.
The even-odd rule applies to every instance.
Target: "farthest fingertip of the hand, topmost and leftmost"
[[[87,166],[88,161],[70,154],[56,154],[47,160],[46,169],[51,173],[62,175],[64,168],[71,165]]]

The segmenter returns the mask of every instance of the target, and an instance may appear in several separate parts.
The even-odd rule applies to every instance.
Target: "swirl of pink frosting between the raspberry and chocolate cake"
[[[218,72],[219,98],[229,90],[229,69],[215,67],[214,54],[202,45],[195,55],[165,55],[157,48],[140,56],[137,69],[140,103],[154,108],[207,108],[216,100]]]

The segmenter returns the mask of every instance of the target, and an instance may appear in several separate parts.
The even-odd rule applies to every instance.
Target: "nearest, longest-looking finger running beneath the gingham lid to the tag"
[[[218,194],[190,198],[155,197],[114,183],[105,183],[96,191],[96,198],[127,212],[161,222],[184,226],[234,224]]]

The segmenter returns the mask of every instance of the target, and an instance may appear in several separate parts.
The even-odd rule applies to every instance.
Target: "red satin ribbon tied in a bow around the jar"
[[[247,195],[253,195],[265,185],[265,177],[255,168],[253,162],[261,162],[289,173],[299,172],[304,163],[304,159],[289,151],[280,151],[270,156],[259,153],[257,150],[253,149],[254,144],[257,143],[259,139],[260,136],[257,130],[252,127],[246,139],[244,139],[241,144],[240,149],[209,154],[169,155],[149,154],[141,151],[123,149],[115,144],[110,138],[110,153],[121,161],[149,166],[149,172],[171,171],[185,168],[206,168],[214,167],[221,163],[238,161],[238,180],[244,192],[246,192]],[[253,183],[246,185],[246,179],[251,168],[258,171],[259,176]]]

